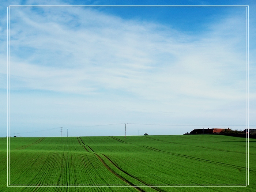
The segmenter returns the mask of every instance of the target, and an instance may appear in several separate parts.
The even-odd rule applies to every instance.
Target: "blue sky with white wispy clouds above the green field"
[[[136,5],[74,2],[52,5]],[[221,3],[249,5],[249,124],[255,128],[255,3]],[[1,5],[0,136],[7,133],[7,6],[44,4]],[[59,127],[63,135],[69,128],[69,136],[124,135],[124,123],[127,135],[245,129],[245,8],[12,7],[10,13],[11,136],[60,136]]]

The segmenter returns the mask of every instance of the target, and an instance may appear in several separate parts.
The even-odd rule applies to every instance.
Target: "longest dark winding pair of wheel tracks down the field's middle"
[[[80,138],[80,137],[79,137],[79,138]],[[77,139],[78,139],[78,137],[77,137]],[[113,139],[115,139],[115,138],[113,138]],[[81,142],[83,143],[83,140],[82,140],[81,138],[80,138],[80,140],[81,140]],[[80,145],[82,145],[82,144],[80,143],[80,140],[78,139],[78,142],[79,142]],[[117,139],[116,139],[116,140],[117,140]],[[122,143],[123,143],[123,141],[122,141]],[[129,185],[131,185],[131,187],[137,189],[138,191],[140,191],[140,192],[146,192],[146,191],[144,191],[143,189],[140,189],[138,186],[136,186],[136,185],[133,184],[132,182],[130,182],[130,181],[128,181],[127,179],[125,179],[124,177],[122,177],[120,174],[116,173],[111,167],[109,167],[109,166],[104,162],[104,160],[103,160],[98,154],[96,154],[95,151],[92,150],[92,148],[91,148],[90,146],[88,146],[88,145],[86,145],[86,144],[84,144],[84,143],[83,143],[82,146],[85,148],[85,150],[86,150],[87,152],[95,154],[95,155],[99,158],[99,160],[102,162],[102,164],[103,164],[111,173],[113,173],[116,177],[118,177],[118,178],[120,178],[121,180],[123,180],[124,182],[128,183]],[[89,147],[90,150],[93,151],[93,152],[90,152],[89,150],[87,150],[87,148],[86,148],[85,146]],[[100,154],[101,154],[101,153],[100,153]],[[152,188],[152,189],[155,189],[155,190],[158,191],[158,192],[165,192],[165,191],[160,190],[160,189],[158,189],[158,188],[156,188],[156,187],[153,187],[153,186],[151,186],[151,185],[149,185],[149,184],[146,184],[144,181],[142,181],[142,180],[140,180],[140,179],[138,179],[138,178],[136,178],[136,177],[133,177],[131,174],[125,172],[125,171],[122,170],[120,167],[118,167],[118,166],[116,165],[116,163],[114,163],[113,161],[111,161],[106,155],[104,155],[104,154],[101,154],[101,155],[103,155],[104,157],[106,157],[106,158],[109,160],[109,162],[110,162],[112,165],[114,165],[118,170],[120,170],[121,172],[127,174],[128,176],[132,177],[133,179],[135,179],[135,180],[137,180],[137,181],[143,183],[144,185],[147,185],[148,187],[150,187],[150,188]]]

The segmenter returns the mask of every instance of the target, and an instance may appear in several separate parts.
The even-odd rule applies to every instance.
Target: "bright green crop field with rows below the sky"
[[[246,184],[245,138],[223,135],[10,138],[8,160],[10,185],[24,187],[7,187],[7,138],[0,138],[0,191],[256,191],[256,139],[247,187],[211,186]]]

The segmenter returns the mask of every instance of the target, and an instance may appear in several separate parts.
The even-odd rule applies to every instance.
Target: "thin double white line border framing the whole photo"
[[[10,8],[246,8],[246,129],[249,130],[249,5],[10,5],[7,7],[7,187],[246,187],[249,185],[249,131],[246,133],[245,185],[13,185],[10,184]]]

